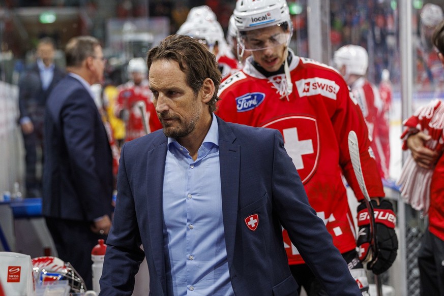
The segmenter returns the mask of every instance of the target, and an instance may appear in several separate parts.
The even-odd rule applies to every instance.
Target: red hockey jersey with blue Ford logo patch
[[[292,92],[284,74],[265,77],[252,65],[219,88],[217,115],[230,122],[279,129],[311,206],[324,221],[341,253],[356,247],[353,219],[342,179],[363,199],[348,152],[348,133],[356,131],[370,196],[384,196],[367,126],[342,76],[327,65],[298,56],[289,65]],[[283,231],[289,264],[304,261]],[[317,247],[317,246],[313,246]]]

